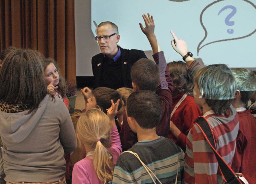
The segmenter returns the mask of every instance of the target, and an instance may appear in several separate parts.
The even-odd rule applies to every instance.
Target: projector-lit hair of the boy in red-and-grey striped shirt
[[[235,78],[227,65],[208,65],[200,69],[194,82],[214,113],[225,114],[236,92]]]

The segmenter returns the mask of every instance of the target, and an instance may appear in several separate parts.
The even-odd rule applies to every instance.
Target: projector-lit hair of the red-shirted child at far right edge
[[[236,88],[241,93],[241,101],[246,104],[256,90],[256,75],[248,69],[231,69],[235,80]]]

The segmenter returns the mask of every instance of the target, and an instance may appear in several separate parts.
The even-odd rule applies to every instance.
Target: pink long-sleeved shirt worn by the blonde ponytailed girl
[[[116,164],[116,160],[122,153],[121,141],[116,126],[111,128],[111,142],[112,147],[110,148],[110,152],[113,162]],[[74,165],[72,184],[104,184],[104,182],[99,180],[92,166],[92,159],[84,158]]]

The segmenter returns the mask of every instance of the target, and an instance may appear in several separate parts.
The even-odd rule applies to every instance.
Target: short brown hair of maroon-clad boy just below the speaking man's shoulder
[[[150,59],[139,59],[132,66],[131,78],[140,90],[156,91],[160,82],[159,68]]]

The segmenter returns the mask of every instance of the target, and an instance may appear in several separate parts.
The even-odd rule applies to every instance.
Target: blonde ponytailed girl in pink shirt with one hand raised
[[[120,137],[115,123],[118,100],[107,110],[107,115],[98,109],[87,110],[78,119],[76,132],[86,157],[76,162],[72,173],[72,184],[112,181],[114,165],[122,153]]]

